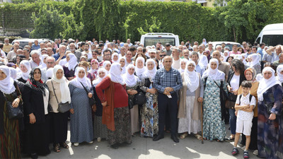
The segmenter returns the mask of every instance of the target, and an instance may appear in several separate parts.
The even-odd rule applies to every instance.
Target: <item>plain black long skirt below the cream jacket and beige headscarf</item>
[[[68,133],[68,112],[50,113],[50,139],[52,143],[67,141]]]

